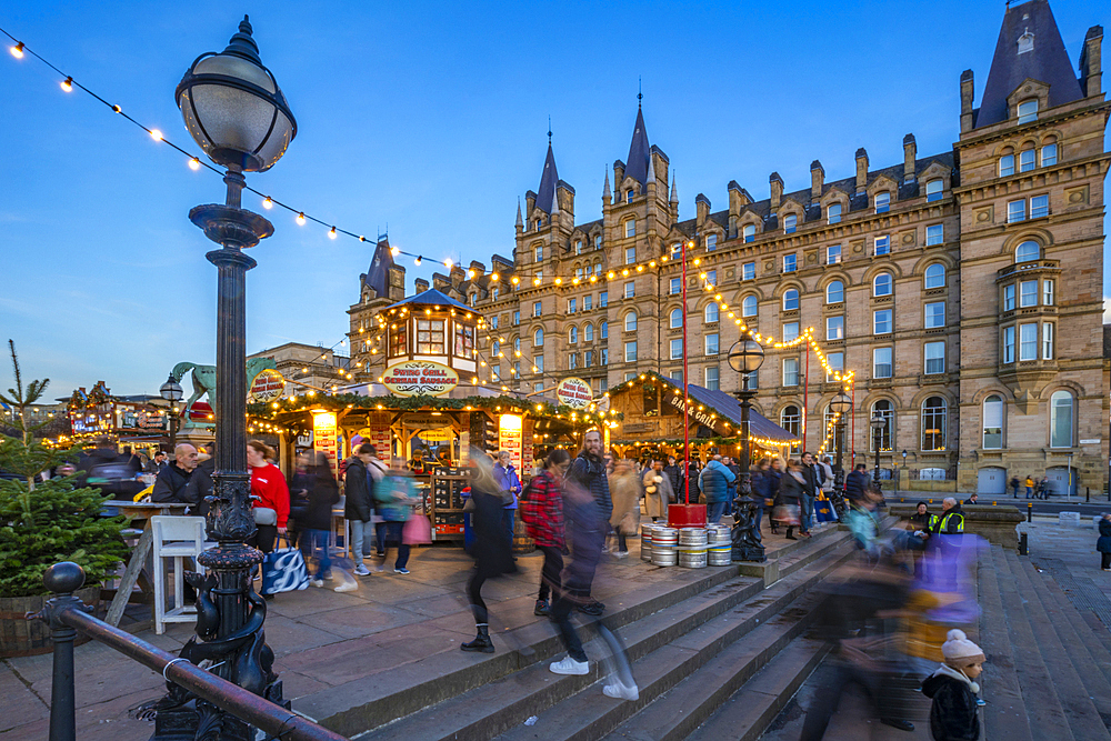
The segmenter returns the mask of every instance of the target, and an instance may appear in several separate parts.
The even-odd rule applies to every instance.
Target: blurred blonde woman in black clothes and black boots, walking
[[[471,554],[474,557],[474,570],[467,582],[467,597],[474,614],[477,634],[473,641],[460,643],[459,648],[463,651],[493,653],[490,613],[482,600],[482,584],[487,579],[517,571],[517,564],[513,563],[513,541],[502,525],[502,512],[509,500],[509,492],[494,478],[493,465],[486,453],[477,448],[472,449],[470,459],[470,502],[474,507],[471,512],[471,527],[474,530]]]

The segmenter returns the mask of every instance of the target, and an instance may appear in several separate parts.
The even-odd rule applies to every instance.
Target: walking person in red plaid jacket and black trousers
[[[571,467],[571,454],[557,448],[548,454],[540,473],[529,482],[529,497],[521,500],[521,520],[529,538],[544,554],[540,570],[540,593],[532,613],[546,617],[551,612],[550,594],[558,594],[567,539],[563,534],[563,477]]]

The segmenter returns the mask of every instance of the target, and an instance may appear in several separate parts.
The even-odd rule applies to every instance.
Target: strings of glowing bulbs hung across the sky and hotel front
[[[106,108],[110,109],[113,113],[120,116],[121,118],[123,118],[129,123],[131,123],[134,127],[137,127],[138,129],[142,130],[147,136],[149,136],[156,142],[159,142],[161,144],[166,144],[170,149],[174,150],[176,152],[178,152],[179,154],[181,154],[182,157],[184,157],[186,158],[186,163],[187,163],[187,166],[191,170],[197,171],[197,170],[201,170],[203,168],[203,169],[206,169],[206,170],[208,170],[210,172],[213,172],[213,173],[220,176],[221,178],[223,177],[223,172],[221,172],[219,168],[214,167],[213,164],[211,164],[211,163],[209,163],[207,161],[201,160],[200,157],[193,154],[192,152],[188,151],[187,149],[184,149],[184,148],[178,146],[177,143],[174,143],[173,141],[167,139],[166,134],[162,132],[161,129],[158,129],[158,128],[154,128],[154,127],[149,127],[149,126],[142,123],[141,121],[137,120],[136,118],[131,117],[129,113],[124,112],[122,106],[120,106],[119,103],[111,103],[111,102],[109,102],[107,98],[104,98],[103,96],[99,94],[98,92],[96,92],[94,90],[92,90],[90,87],[86,86],[84,83],[82,83],[81,81],[79,81],[78,79],[76,79],[72,74],[68,74],[67,72],[62,71],[61,68],[59,68],[58,66],[56,66],[54,63],[52,63],[50,60],[48,60],[44,57],[42,57],[41,54],[39,54],[37,51],[34,51],[33,49],[31,49],[30,47],[28,47],[23,41],[19,40],[14,36],[12,36],[11,33],[9,33],[6,29],[0,28],[0,34],[3,34],[4,37],[7,37],[8,39],[10,39],[13,42],[12,46],[9,48],[9,51],[11,52],[11,56],[14,59],[22,60],[22,59],[24,59],[28,56],[33,57],[34,59],[37,59],[38,61],[40,61],[42,64],[44,64],[46,67],[48,67],[50,70],[52,70],[54,73],[57,73],[59,76],[59,78],[60,78],[59,79],[59,87],[61,88],[61,90],[63,92],[71,93],[74,89],[77,89],[77,90],[80,90],[80,91],[87,93],[92,99],[94,99],[99,103],[103,104]],[[278,207],[279,209],[283,209],[287,212],[289,212],[291,214],[294,214],[294,219],[293,220],[294,220],[294,222],[298,226],[303,227],[308,222],[312,222],[314,224],[323,227],[324,229],[327,229],[327,234],[328,234],[329,239],[334,240],[334,239],[338,239],[340,236],[343,236],[343,237],[347,237],[347,238],[356,239],[356,240],[358,240],[359,242],[362,242],[362,243],[366,243],[368,241],[367,238],[361,232],[358,232],[358,231],[354,231],[354,230],[351,230],[351,229],[346,229],[346,228],[337,227],[334,223],[331,223],[330,221],[320,219],[320,218],[318,218],[318,217],[316,217],[316,216],[313,216],[311,213],[308,213],[302,208],[294,207],[294,206],[292,206],[292,204],[290,204],[290,203],[288,203],[286,201],[276,199],[273,196],[264,193],[264,192],[262,192],[262,191],[260,191],[260,190],[258,190],[258,189],[256,189],[256,188],[253,188],[251,186],[247,186],[244,188],[244,190],[247,190],[248,192],[253,193],[254,196],[259,197],[261,199],[262,208],[266,209],[266,210],[272,210],[274,207]],[[694,247],[695,247],[695,244],[694,244],[693,241],[691,241],[688,244],[688,248],[692,249]],[[397,246],[391,246],[390,247],[390,252],[391,252],[391,257],[393,257],[393,258],[397,258],[397,257],[400,257],[400,256],[406,256],[408,258],[411,258],[413,260],[413,264],[417,266],[417,267],[420,267],[423,263],[423,261],[426,260],[426,257],[423,254],[417,253],[417,252],[407,251],[407,250],[402,250],[402,249],[400,249]],[[600,266],[600,263],[598,263],[598,262],[591,263],[591,261],[589,260],[589,256],[588,256],[587,264],[584,264],[583,267],[573,269],[574,270],[574,274],[569,274],[565,278],[563,276],[552,276],[549,280],[551,281],[550,284],[554,286],[556,288],[561,288],[561,287],[564,287],[564,286],[567,288],[575,288],[575,287],[578,287],[580,284],[594,284],[594,283],[600,283],[602,281],[610,282],[610,281],[620,280],[620,279],[624,279],[624,278],[629,278],[629,277],[634,277],[637,274],[644,273],[648,270],[662,270],[665,266],[668,266],[669,261],[672,262],[672,263],[675,262],[673,259],[670,259],[668,254],[663,254],[663,256],[660,256],[659,258],[653,258],[653,259],[649,259],[649,260],[641,261],[641,262],[635,262],[635,263],[629,263],[629,264],[625,264],[625,266],[623,266],[623,267],[621,267],[619,269],[605,270],[605,269],[602,269],[601,266]],[[449,271],[451,271],[458,264],[451,258],[444,258],[443,260],[437,260],[434,262],[442,264]],[[722,298],[721,293],[717,292],[715,284],[710,281],[710,274],[711,273],[707,272],[707,270],[704,268],[702,268],[702,258],[694,258],[694,260],[692,261],[692,263],[693,263],[693,266],[694,266],[695,269],[701,269],[700,272],[699,272],[699,276],[698,276],[699,280],[701,281],[701,287],[702,287],[703,291],[705,291],[708,293],[711,293],[713,296],[713,302],[718,306],[719,311],[727,312],[728,318],[733,320],[734,324],[740,329],[741,332],[749,332],[750,330],[747,327],[747,324],[744,323],[743,319],[741,319],[740,317],[737,317],[735,312],[730,310],[729,303]],[[473,269],[468,270],[466,274],[467,274],[468,280],[474,280],[478,277],[478,272],[476,270],[473,270]],[[546,284],[544,274],[543,274],[543,270],[542,269],[537,269],[533,272],[528,272],[528,271],[517,270],[514,268],[512,270],[511,274],[508,274],[508,276],[502,276],[502,274],[500,274],[499,272],[496,271],[496,272],[491,272],[491,273],[489,273],[488,276],[484,276],[484,277],[487,278],[487,286],[488,287],[491,287],[494,283],[501,283],[502,282],[502,278],[503,277],[508,277],[508,281],[512,286],[511,290],[519,290],[521,288],[527,288],[529,282],[531,282],[531,284],[532,284],[533,288],[541,288],[541,287],[543,287]],[[493,328],[491,328],[488,323],[486,323],[481,319],[479,320],[478,324],[479,324],[479,329],[480,330],[486,330],[488,332],[496,331]],[[374,331],[371,334],[371,338],[374,339],[374,341],[376,341],[376,347],[373,347],[371,349],[371,353],[372,354],[377,352],[377,350],[378,350],[378,348],[377,348],[377,340],[380,339],[379,337],[376,337],[376,336],[378,336],[379,332],[381,332],[382,330],[384,330],[384,326],[386,326],[384,320],[381,317],[379,317],[379,327],[377,328],[378,331]],[[364,328],[360,328],[360,332],[361,333],[364,332]],[[758,342],[763,342],[763,343],[769,344],[769,346],[771,346],[773,348],[777,348],[777,349],[793,348],[793,347],[797,347],[797,346],[799,346],[799,344],[801,344],[803,342],[807,342],[809,344],[809,348],[817,353],[817,356],[819,358],[819,361],[821,362],[822,368],[825,370],[827,374],[829,377],[832,377],[835,380],[842,382],[842,384],[843,384],[843,387],[845,389],[851,390],[852,379],[853,379],[852,371],[842,372],[840,369],[833,369],[830,366],[828,357],[822,351],[822,349],[818,344],[818,342],[814,340],[813,328],[809,328],[801,336],[799,336],[794,340],[790,340],[790,341],[780,341],[780,342],[777,342],[773,337],[771,337],[771,336],[762,336],[759,332],[753,332],[752,336],[754,337],[754,339]],[[334,342],[330,348],[326,349],[326,351],[321,353],[321,359],[326,359],[327,358],[327,353],[329,351],[334,351],[336,347],[338,347],[338,346],[339,347],[346,346],[346,342],[347,342],[347,338],[340,339],[337,342]],[[501,342],[503,342],[503,343],[506,342],[506,339],[503,337],[501,337]],[[492,343],[491,343],[491,348],[492,348]],[[520,350],[514,350],[514,353],[516,353],[516,356],[518,358],[521,357]],[[478,358],[480,360],[481,367],[490,368],[490,374],[491,374],[491,379],[490,380],[492,382],[496,382],[496,383],[502,383],[503,379],[494,370],[494,363],[492,362],[492,360],[493,360],[492,357],[491,358],[484,357],[483,353],[482,353],[482,351],[478,347],[476,347],[476,354],[478,356]],[[504,352],[499,351],[497,353],[497,357],[500,359],[500,358],[504,358],[506,356],[504,356]],[[361,362],[357,363],[357,368],[361,368],[361,366],[362,366]],[[500,363],[499,363],[498,367],[500,367]],[[302,371],[303,372],[308,372],[308,367],[303,368]],[[540,370],[540,368],[538,366],[536,366],[536,364],[532,364],[532,372],[533,373],[540,373],[541,375],[543,375],[546,378],[550,378],[547,373],[544,373],[542,370]],[[514,366],[512,363],[510,364],[510,374],[511,375],[517,375],[518,374],[518,371],[516,370],[516,368],[514,368]],[[346,377],[346,379],[349,380],[349,381],[353,381],[354,380],[354,374],[351,372],[350,368],[347,371],[342,371],[341,375]],[[552,379],[552,380],[556,380],[556,379]],[[296,379],[293,379],[292,381],[294,383],[300,383],[301,385],[307,385],[303,382],[298,381]],[[476,385],[486,384],[486,381],[484,380],[480,380],[477,375],[474,377],[473,382],[474,382]],[[509,391],[508,385],[502,384],[501,388],[504,391]],[[331,390],[332,391],[337,391],[338,389],[339,389],[339,387],[337,384],[333,384]],[[308,393],[312,394],[313,392],[314,392],[314,390],[310,390]],[[327,390],[324,390],[324,392],[327,392]],[[834,417],[834,420],[835,419],[837,419],[837,417]],[[832,427],[830,429],[832,429]],[[829,430],[827,430],[827,438],[825,438],[827,441],[829,440],[829,434],[830,434],[830,432],[829,432]],[[751,437],[750,437],[750,439],[751,439]],[[755,439],[753,439],[753,441],[759,442],[759,440],[755,440]],[[824,447],[825,447],[825,442],[822,443],[822,450],[824,450]],[[821,450],[819,452],[821,452]]]

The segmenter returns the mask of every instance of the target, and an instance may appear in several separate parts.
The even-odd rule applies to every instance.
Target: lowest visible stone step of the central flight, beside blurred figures
[[[755,741],[829,650],[827,641],[794,639],[687,738],[690,741]]]

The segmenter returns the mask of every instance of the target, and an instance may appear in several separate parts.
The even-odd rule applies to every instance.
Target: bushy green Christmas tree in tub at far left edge
[[[77,477],[46,478],[43,472],[77,458],[77,450],[51,449],[29,424],[27,408],[42,398],[49,379],[24,388],[16,344],[8,340],[16,388],[0,401],[16,412],[16,434],[0,433],[0,658],[50,651],[50,631],[27,612],[38,612],[51,594],[42,573],[59,561],[79,563],[86,587],[77,592],[87,604],[100,600],[100,582],[127,558],[120,535],[123,518],[101,517],[104,497],[80,485]]]

